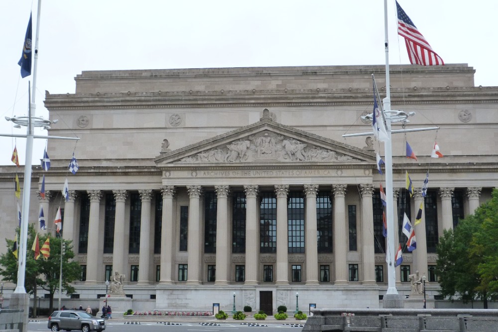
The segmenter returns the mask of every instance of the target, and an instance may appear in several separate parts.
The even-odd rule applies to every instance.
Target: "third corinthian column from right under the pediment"
[[[316,194],[318,185],[304,185],[306,194],[306,285],[318,285],[318,243],[316,237]]]

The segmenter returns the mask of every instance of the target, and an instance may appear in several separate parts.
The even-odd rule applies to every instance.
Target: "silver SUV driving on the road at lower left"
[[[54,311],[52,315],[48,317],[48,328],[51,331],[104,331],[106,330],[106,321],[98,319],[84,311],[61,310]]]

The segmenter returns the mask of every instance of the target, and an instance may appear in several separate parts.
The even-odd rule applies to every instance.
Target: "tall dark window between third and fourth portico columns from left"
[[[232,252],[246,252],[246,195],[232,195]]]

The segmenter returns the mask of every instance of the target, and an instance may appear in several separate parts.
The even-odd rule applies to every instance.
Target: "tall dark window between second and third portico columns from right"
[[[316,196],[318,252],[332,252],[332,202],[327,193]]]

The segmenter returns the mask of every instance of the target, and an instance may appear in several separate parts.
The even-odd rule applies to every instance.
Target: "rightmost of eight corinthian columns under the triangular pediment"
[[[360,185],[362,194],[362,260],[363,284],[375,284],[375,255],[373,247],[373,184]]]

